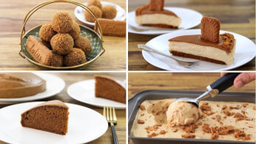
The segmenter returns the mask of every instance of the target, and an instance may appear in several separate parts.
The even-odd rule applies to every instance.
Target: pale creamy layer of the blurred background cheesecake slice
[[[174,15],[165,15],[159,13],[136,15],[135,21],[137,24],[166,24],[169,26],[179,26],[181,19]]]

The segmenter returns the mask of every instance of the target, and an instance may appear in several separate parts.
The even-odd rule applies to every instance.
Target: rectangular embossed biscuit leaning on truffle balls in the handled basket
[[[51,65],[52,52],[37,39],[30,35],[26,40],[26,52],[35,60],[43,65]]]

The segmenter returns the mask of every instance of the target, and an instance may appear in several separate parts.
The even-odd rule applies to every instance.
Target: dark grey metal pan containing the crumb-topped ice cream
[[[140,104],[146,100],[163,100],[168,98],[196,98],[204,92],[200,91],[181,91],[181,90],[143,90],[139,93],[136,93],[135,96],[129,99],[128,101],[128,137],[129,140],[132,140],[134,144],[138,143],[254,143],[246,141],[234,141],[234,140],[210,140],[210,139],[185,139],[185,138],[166,138],[166,137],[135,137],[131,135],[131,130],[133,123],[136,119],[138,110],[140,109]],[[226,102],[247,102],[255,103],[255,93],[221,93],[215,98],[206,98],[205,101],[226,101]]]

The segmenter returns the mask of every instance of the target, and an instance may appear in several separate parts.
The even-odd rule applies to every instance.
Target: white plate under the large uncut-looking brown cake
[[[60,93],[64,87],[65,82],[58,76],[49,73],[34,73],[46,81],[46,90],[34,96],[26,96],[23,98],[0,98],[0,104],[14,104],[22,101],[34,101],[42,98],[49,98]]]

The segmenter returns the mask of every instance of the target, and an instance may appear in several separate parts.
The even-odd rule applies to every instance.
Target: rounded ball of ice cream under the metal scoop
[[[171,103],[166,111],[167,123],[171,126],[196,123],[199,117],[199,109],[185,101]]]

